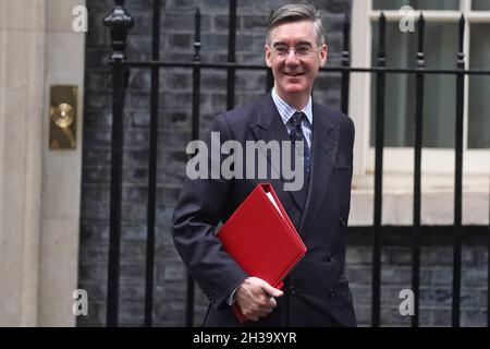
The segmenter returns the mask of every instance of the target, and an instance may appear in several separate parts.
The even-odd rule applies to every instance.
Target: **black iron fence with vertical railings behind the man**
[[[145,292],[145,326],[152,325],[154,306],[154,260],[155,260],[155,220],[156,220],[156,185],[157,185],[157,144],[158,144],[158,95],[159,70],[163,68],[186,68],[193,74],[193,100],[192,100],[192,139],[198,137],[199,130],[199,97],[201,70],[224,70],[228,72],[226,81],[226,107],[232,109],[235,101],[235,72],[237,70],[264,71],[267,74],[265,91],[272,87],[273,79],[266,65],[238,64],[235,62],[236,38],[236,0],[230,0],[229,13],[229,46],[226,63],[200,62],[200,11],[195,13],[195,41],[194,60],[192,62],[163,62],[160,61],[160,19],[161,0],[152,2],[152,40],[151,60],[126,60],[124,55],[126,35],[134,21],[123,8],[124,0],[114,0],[115,8],[105,19],[105,25],[110,27],[113,53],[111,56],[113,105],[112,105],[112,149],[111,149],[111,188],[110,188],[110,237],[109,237],[109,276],[107,298],[107,325],[118,326],[119,313],[119,276],[120,276],[120,245],[121,245],[121,189],[122,189],[122,155],[123,155],[123,106],[124,93],[127,82],[127,72],[132,68],[143,68],[151,71],[150,92],[150,140],[149,140],[149,176],[148,176],[148,203],[147,203],[147,254],[146,254],[146,292]],[[415,156],[414,156],[414,204],[412,227],[412,289],[415,294],[415,315],[412,316],[412,326],[419,325],[419,285],[420,285],[420,182],[421,182],[421,140],[424,117],[424,79],[426,74],[448,74],[456,76],[455,107],[455,178],[454,178],[454,224],[453,224],[453,284],[452,284],[452,325],[460,326],[461,305],[461,278],[462,278],[462,194],[463,194],[463,137],[464,137],[464,101],[465,101],[465,75],[490,75],[490,71],[465,70],[464,29],[465,19],[462,15],[458,22],[458,53],[456,58],[457,69],[427,69],[424,56],[425,20],[418,19],[418,49],[416,68],[388,68],[385,67],[385,24],[387,20],[381,13],[379,17],[379,50],[377,65],[369,69],[353,68],[350,65],[350,15],[345,14],[343,24],[343,50],[341,67],[321,69],[322,72],[334,72],[341,75],[341,109],[348,113],[348,83],[352,72],[373,74],[376,79],[376,167],[375,167],[375,214],[372,226],[372,301],[371,325],[380,325],[380,296],[381,296],[381,249],[383,241],[382,217],[382,169],[384,146],[384,93],[387,73],[415,74],[416,108],[415,108]],[[490,226],[489,245],[490,251]],[[488,268],[488,289],[490,288],[490,258]],[[187,276],[186,298],[186,325],[194,323],[194,281]],[[487,323],[490,325],[490,292],[488,294]]]

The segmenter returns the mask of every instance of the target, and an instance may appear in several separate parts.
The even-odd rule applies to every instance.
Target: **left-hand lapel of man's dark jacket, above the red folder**
[[[254,136],[256,137],[256,141],[262,140],[266,143],[269,143],[270,141],[279,141],[280,145],[282,145],[283,141],[291,141],[270,93],[261,100],[256,122],[250,125],[250,129]],[[267,159],[270,166],[273,167],[270,154],[267,154]],[[285,179],[282,177],[281,169],[273,168],[273,170],[279,173],[279,178],[281,180],[281,183],[283,184],[285,182]],[[287,196],[283,194],[284,190],[282,186],[274,188],[274,190],[279,198],[283,200],[285,198],[284,196]],[[304,207],[302,207],[301,205],[299,192],[289,191],[287,193],[290,194],[297,208],[303,212]]]

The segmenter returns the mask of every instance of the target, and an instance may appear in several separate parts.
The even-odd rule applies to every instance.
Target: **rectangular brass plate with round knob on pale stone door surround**
[[[49,147],[76,147],[76,108],[78,86],[52,85],[49,100]]]

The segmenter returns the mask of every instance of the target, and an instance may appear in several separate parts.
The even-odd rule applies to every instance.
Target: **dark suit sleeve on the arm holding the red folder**
[[[218,116],[206,140],[208,158],[211,157],[211,132],[219,132],[221,143],[231,139],[226,121]],[[229,306],[228,298],[248,277],[215,237],[216,226],[224,216],[231,185],[232,181],[221,176],[219,179],[186,178],[172,218],[176,251],[216,309]]]

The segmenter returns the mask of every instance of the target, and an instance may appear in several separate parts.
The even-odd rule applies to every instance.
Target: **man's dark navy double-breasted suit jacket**
[[[248,275],[222,250],[215,232],[256,184],[266,181],[272,183],[308,252],[286,278],[284,296],[277,299],[273,312],[244,326],[356,325],[345,277],[354,123],[316,103],[313,115],[313,165],[306,203],[302,203],[301,192],[283,190],[282,178],[185,181],[173,216],[173,239],[210,300],[206,326],[240,326],[226,300]],[[221,143],[290,140],[271,94],[218,116],[210,131],[220,132]]]

